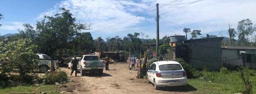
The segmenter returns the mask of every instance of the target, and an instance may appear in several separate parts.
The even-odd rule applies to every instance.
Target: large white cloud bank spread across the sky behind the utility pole
[[[143,12],[144,10],[155,6],[156,3],[167,4],[174,0],[119,0],[123,4],[131,7],[133,10]],[[178,0],[172,4],[193,2],[197,0]],[[213,33],[216,31],[227,30],[228,23],[233,24],[232,28],[237,27],[237,22],[242,19],[249,18],[256,24],[256,0],[204,0],[195,2],[188,6],[174,10],[170,13],[160,15],[161,17],[181,26],[191,28],[192,30],[201,30],[203,34]],[[186,5],[186,4],[185,4]],[[161,7],[163,5],[159,5]],[[170,10],[176,9],[184,5],[167,5],[159,9],[159,14],[163,14]],[[136,12],[128,9],[115,0],[65,0],[56,4],[52,9],[43,12],[38,16],[42,19],[44,15],[53,16],[59,13],[60,7],[70,9],[77,21],[92,23],[92,30],[96,31],[105,27],[115,25],[119,22],[125,21],[129,18],[135,17]],[[153,7],[150,10],[155,9]],[[155,16],[155,11],[147,15]],[[160,18],[160,37],[164,35],[180,34],[184,35],[182,28],[173,27],[171,23],[163,22]],[[150,38],[155,36],[155,27],[150,27],[149,24],[155,25],[155,19],[141,15],[137,18],[116,25],[111,28],[102,30],[100,33],[110,35],[114,32],[133,33],[131,31],[145,31],[150,35]],[[146,29],[145,29],[146,28]],[[179,28],[179,29],[176,29]],[[223,31],[226,33],[226,31]],[[218,33],[218,32],[216,32]],[[115,36],[115,35],[113,35]]]

